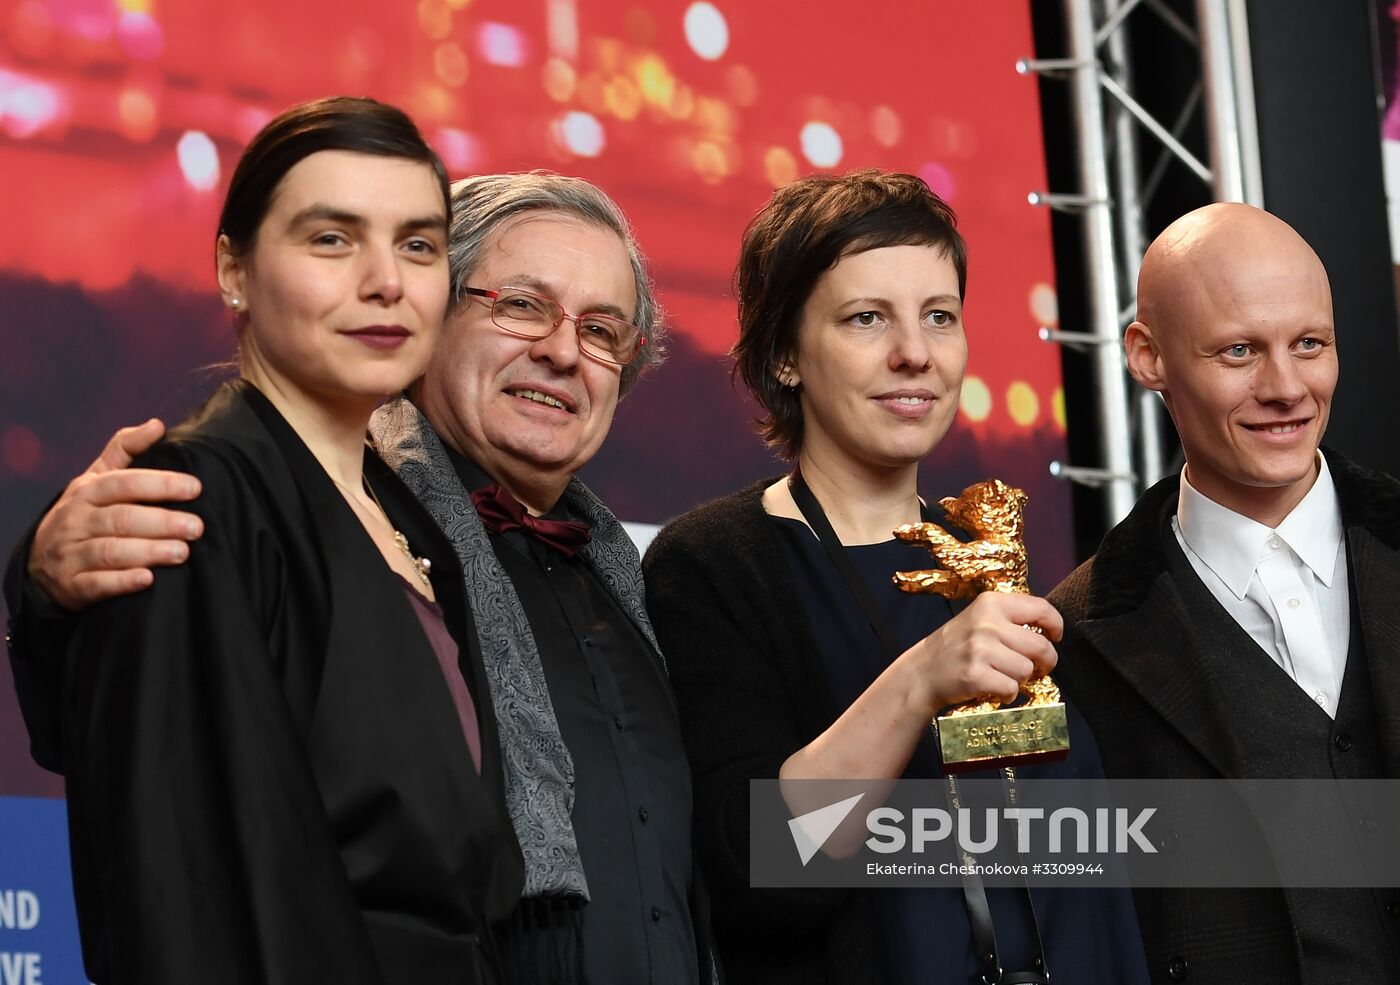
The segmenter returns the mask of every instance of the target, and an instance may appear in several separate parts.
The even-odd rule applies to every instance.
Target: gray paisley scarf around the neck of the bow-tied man
[[[588,881],[570,820],[574,761],[559,735],[525,609],[491,550],[469,491],[419,409],[407,400],[385,404],[370,423],[370,432],[384,460],[442,527],[462,564],[500,726],[505,806],[525,856],[524,895],[587,900]],[[563,501],[592,526],[592,540],[580,557],[594,567],[659,659],[637,547],[617,518],[577,479]]]

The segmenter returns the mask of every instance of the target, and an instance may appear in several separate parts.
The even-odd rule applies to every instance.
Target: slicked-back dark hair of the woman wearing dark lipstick
[[[314,99],[272,120],[238,158],[218,217],[218,232],[228,236],[234,253],[252,249],[281,179],[318,151],[354,151],[426,164],[442,186],[442,207],[452,214],[447,168],[407,113],[374,99],[344,95]]]

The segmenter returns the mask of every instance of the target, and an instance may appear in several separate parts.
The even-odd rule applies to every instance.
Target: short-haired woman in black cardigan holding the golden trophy
[[[952,210],[911,175],[795,182],[743,238],[736,371],[794,469],[675,520],[645,560],[735,982],[1147,981],[1126,890],[749,887],[750,779],[939,777],[939,709],[1012,700],[1054,666],[1043,599],[987,593],[955,614],[890,583],[930,565],[892,532],[930,518],[918,462],[958,411],[966,277]],[[1068,761],[1018,772],[1102,777],[1072,709],[1070,728]]]

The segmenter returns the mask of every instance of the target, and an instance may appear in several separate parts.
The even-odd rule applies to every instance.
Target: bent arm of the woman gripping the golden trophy
[[[750,779],[896,779],[939,709],[981,695],[1014,700],[1028,677],[1054,667],[1051,641],[1063,631],[1044,599],[983,595],[893,660],[834,721],[799,723],[794,681],[781,667],[818,673],[815,653],[785,653],[815,644],[794,635],[802,617],[783,610],[794,600],[773,588],[781,572],[742,557],[746,547],[725,547],[748,533],[682,522],[645,560],[648,610],[694,775],[696,835],[725,888],[748,883]],[[790,807],[802,813],[805,805]],[[792,912],[822,895],[797,894]]]

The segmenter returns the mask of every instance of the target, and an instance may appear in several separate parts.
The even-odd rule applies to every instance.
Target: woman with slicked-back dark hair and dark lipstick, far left
[[[448,186],[400,111],[272,120],[216,245],[239,379],[137,465],[192,473],[188,564],[66,652],[95,982],[496,982],[519,895],[451,546],[365,445],[448,299]]]

